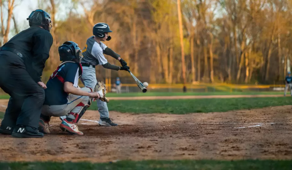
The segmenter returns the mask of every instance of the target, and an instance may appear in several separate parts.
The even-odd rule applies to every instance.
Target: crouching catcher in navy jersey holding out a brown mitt
[[[66,116],[60,124],[61,129],[70,134],[83,135],[76,124],[91,105],[90,98],[107,101],[106,89],[103,82],[98,82],[95,92],[91,88],[78,86],[78,79],[82,75],[82,66],[80,65],[82,51],[78,44],[67,41],[59,47],[58,51],[62,63],[47,82],[48,88],[45,89],[46,95],[39,119],[39,131],[50,134],[49,121],[51,116]],[[96,92],[97,90],[99,91]]]

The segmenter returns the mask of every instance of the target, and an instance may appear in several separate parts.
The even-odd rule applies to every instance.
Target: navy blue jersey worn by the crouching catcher
[[[47,82],[44,105],[67,104],[68,93],[64,91],[64,83],[71,82],[74,87],[78,86],[79,67],[78,63],[68,62],[57,68]]]

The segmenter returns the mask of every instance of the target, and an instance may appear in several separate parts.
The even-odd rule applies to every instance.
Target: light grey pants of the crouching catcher
[[[83,87],[81,90],[86,92],[91,92],[91,89],[88,87]],[[88,104],[89,102],[89,96],[76,96],[73,94],[70,94],[67,97],[67,104],[65,105],[43,105],[42,107],[42,114],[46,116],[65,116],[68,113],[79,113],[79,111],[82,109],[83,106],[77,106],[80,102],[84,105]],[[77,106],[77,107],[76,107]]]

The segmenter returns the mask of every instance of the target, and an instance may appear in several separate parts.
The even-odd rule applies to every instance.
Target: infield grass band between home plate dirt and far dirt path
[[[291,105],[291,97],[222,98],[222,99],[178,99],[178,100],[112,100],[110,111],[122,113],[207,113],[230,110],[254,109],[268,106]],[[98,110],[93,103],[89,110]]]

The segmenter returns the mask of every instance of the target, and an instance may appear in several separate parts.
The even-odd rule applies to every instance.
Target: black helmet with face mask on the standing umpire
[[[50,29],[52,28],[51,16],[48,14],[48,12],[41,9],[32,11],[30,16],[26,18],[26,20],[29,21],[30,27],[41,26],[48,32],[50,32]]]

